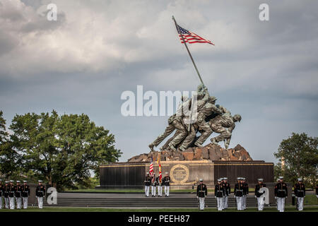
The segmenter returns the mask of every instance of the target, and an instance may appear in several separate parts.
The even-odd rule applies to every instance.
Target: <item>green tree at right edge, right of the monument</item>
[[[295,183],[302,177],[305,184],[314,186],[318,172],[318,138],[305,133],[292,133],[281,142],[274,156],[279,162],[274,167],[276,177],[283,175],[286,182]],[[281,162],[285,162],[282,165]]]

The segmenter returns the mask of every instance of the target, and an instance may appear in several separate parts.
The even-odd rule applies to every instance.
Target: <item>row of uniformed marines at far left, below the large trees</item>
[[[42,180],[38,181],[39,184],[35,189],[35,196],[37,198],[37,203],[39,208],[43,208],[43,198],[45,198],[45,186],[42,184]],[[28,208],[28,197],[30,196],[30,186],[27,181],[16,181],[16,185],[13,180],[6,181],[2,184],[2,179],[0,179],[0,209],[4,206],[6,209],[10,208],[14,210],[15,208],[21,209]],[[3,198],[4,205],[3,205]]]

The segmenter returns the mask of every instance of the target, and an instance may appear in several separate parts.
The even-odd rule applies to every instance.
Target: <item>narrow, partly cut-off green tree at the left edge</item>
[[[13,148],[11,138],[6,131],[6,119],[0,111],[0,174],[4,178],[16,179],[20,177],[20,155]]]

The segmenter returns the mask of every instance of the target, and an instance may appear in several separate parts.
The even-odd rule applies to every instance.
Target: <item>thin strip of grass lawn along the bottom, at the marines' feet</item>
[[[26,210],[0,210],[1,212],[201,212],[197,208],[160,208],[160,209],[127,209],[127,208],[83,208],[83,207],[45,207],[43,209],[30,207]],[[218,212],[216,208],[206,208],[205,212]],[[223,212],[237,212],[235,208]],[[240,212],[258,212],[257,208],[247,208]],[[277,212],[275,207],[266,207],[264,212]],[[298,212],[295,206],[286,206],[285,212]],[[305,206],[302,212],[318,212],[318,206]]]

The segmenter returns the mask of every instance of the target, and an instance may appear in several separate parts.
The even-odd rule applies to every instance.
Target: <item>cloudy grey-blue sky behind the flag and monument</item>
[[[50,3],[57,21],[47,20]],[[259,20],[262,3],[269,21]],[[292,132],[318,135],[317,8],[317,1],[0,0],[0,109],[8,124],[28,112],[85,113],[114,134],[121,161],[148,153],[168,117],[123,117],[120,96],[136,85],[196,90],[174,15],[216,44],[189,49],[210,94],[242,115],[230,147],[276,162]]]

